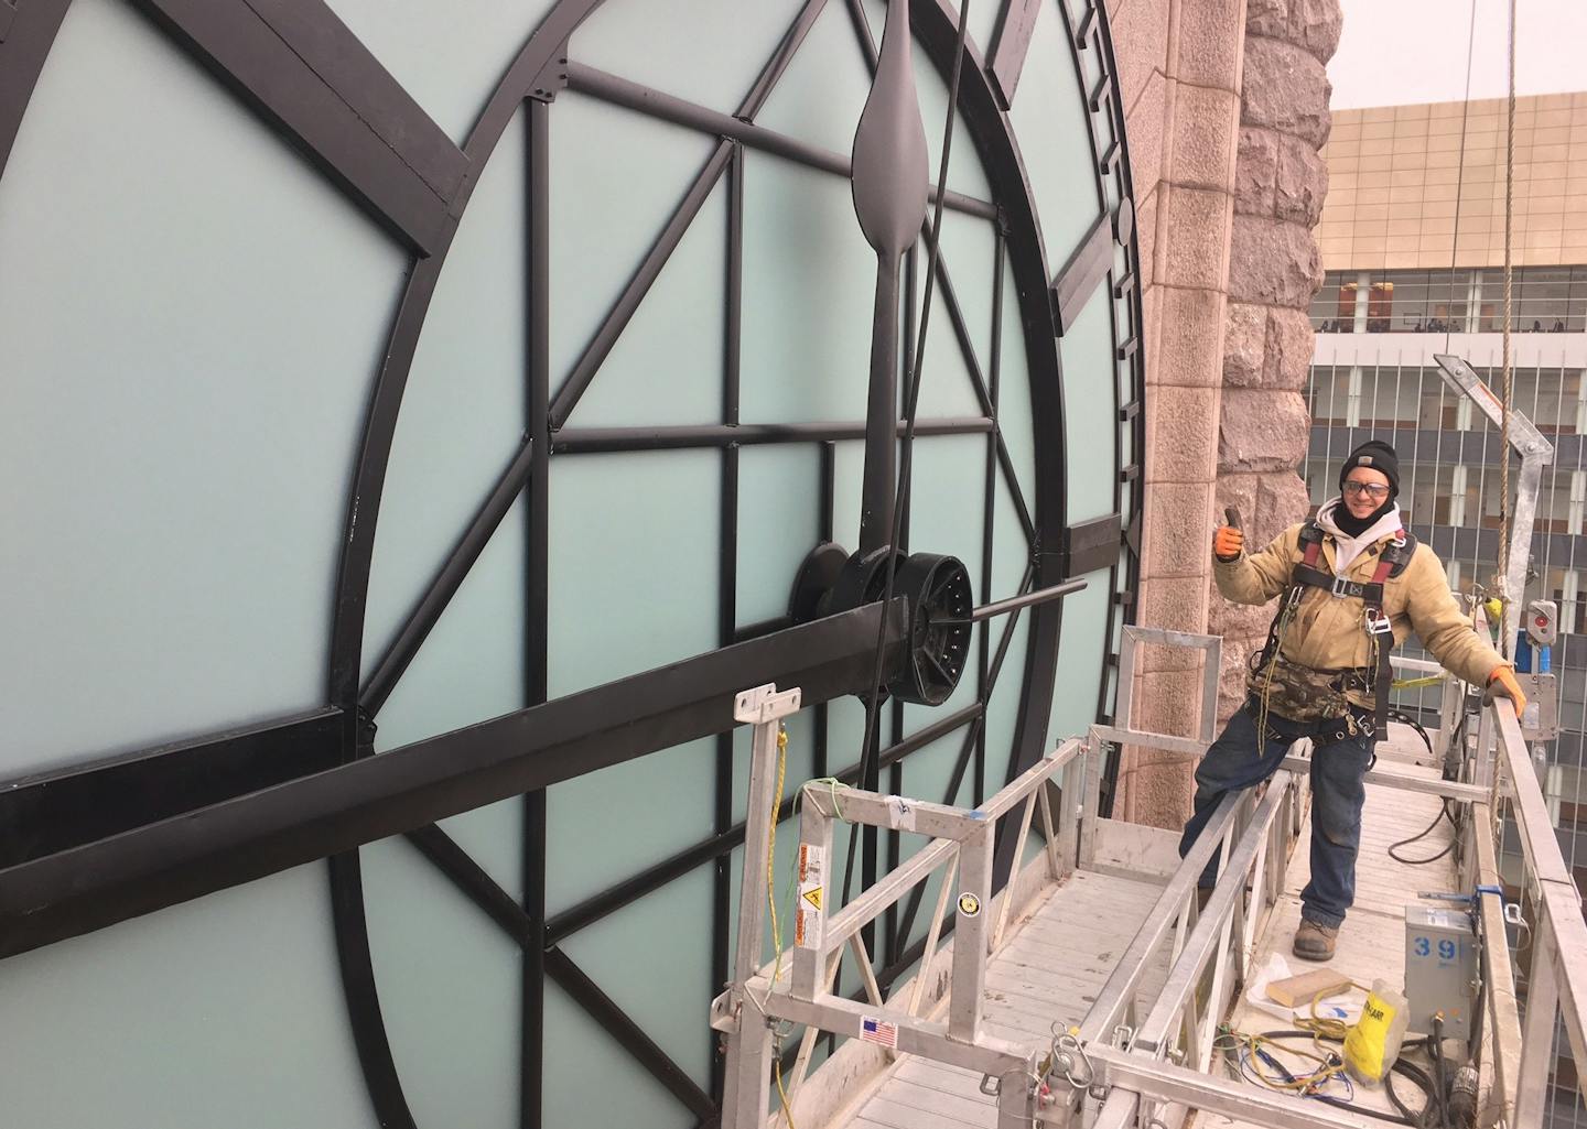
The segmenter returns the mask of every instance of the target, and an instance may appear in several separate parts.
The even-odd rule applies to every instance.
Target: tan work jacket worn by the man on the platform
[[[1252,557],[1241,553],[1232,561],[1214,557],[1217,590],[1236,604],[1265,604],[1278,596],[1289,587],[1290,571],[1301,563],[1300,531],[1300,525],[1292,525]],[[1346,569],[1346,579],[1371,584],[1378,558],[1392,541],[1393,536],[1384,536],[1362,552]],[[1333,574],[1333,534],[1324,533],[1317,568]],[[1424,544],[1417,544],[1400,576],[1384,582],[1384,612],[1393,625],[1395,644],[1416,631],[1422,645],[1455,677],[1482,687],[1497,668],[1508,666],[1462,614],[1438,553]],[[1373,666],[1365,614],[1366,606],[1357,598],[1303,588],[1295,618],[1284,631],[1284,656],[1316,671]],[[1363,691],[1351,691],[1347,698],[1357,706],[1374,704]]]

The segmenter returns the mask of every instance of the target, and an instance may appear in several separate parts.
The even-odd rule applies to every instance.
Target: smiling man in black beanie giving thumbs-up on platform
[[[1279,612],[1268,642],[1251,661],[1247,699],[1195,774],[1195,813],[1179,855],[1230,791],[1273,775],[1289,745],[1312,739],[1311,882],[1301,891],[1295,955],[1333,956],[1344,913],[1355,899],[1362,837],[1362,777],[1381,739],[1389,702],[1389,650],[1416,631],[1457,677],[1525,695],[1514,669],[1477,636],[1449,591],[1444,566],[1400,523],[1400,461],[1385,442],[1363,442],[1344,460],[1339,495],[1312,522],[1292,525],[1266,549],[1244,555],[1244,536],[1220,526],[1212,538],[1217,590],[1239,604]],[[1265,736],[1258,739],[1258,733]],[[1217,863],[1201,875],[1214,883]]]

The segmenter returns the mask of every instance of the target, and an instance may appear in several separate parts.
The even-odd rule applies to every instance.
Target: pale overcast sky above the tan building
[[[1471,97],[1508,89],[1509,0],[1476,2]],[[1333,108],[1460,101],[1473,0],[1341,0]],[[1516,94],[1587,90],[1587,0],[1517,0]]]

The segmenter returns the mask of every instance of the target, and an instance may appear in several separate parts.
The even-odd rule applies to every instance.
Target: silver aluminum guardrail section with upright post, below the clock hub
[[[1017,1077],[1027,1085],[1003,1088],[998,1129],[1028,1129],[1035,1116],[1038,1059],[1030,1048],[992,1037],[982,1024],[982,986],[989,951],[995,951],[1016,909],[1041,882],[1057,882],[1073,871],[1082,806],[1070,798],[1087,794],[1095,812],[1100,755],[1084,741],[1066,741],[1014,782],[976,809],[905,801],[900,796],[849,788],[832,780],[806,783],[800,793],[798,885],[801,915],[794,943],[771,964],[757,967],[763,945],[768,896],[770,812],[774,806],[776,725],[779,706],[763,707],[779,696],[770,688],[747,691],[741,720],[755,723],[751,764],[751,815],[746,831],[743,897],[736,975],[733,986],[711,1005],[711,1024],[727,1034],[728,1072],[724,1097],[724,1129],[759,1129],[770,1115],[768,1077],[778,1023],[806,1028],[794,1069],[784,1080],[787,1102],[798,1100],[811,1053],[820,1032],[882,1043],[900,1054],[919,1054],[938,1062],[979,1070],[989,1080]],[[797,695],[797,691],[795,691]],[[787,696],[781,696],[786,702]],[[792,699],[797,707],[797,696]],[[784,710],[786,712],[786,710]],[[1065,796],[1059,812],[1046,785],[1055,782]],[[1044,866],[1024,874],[1032,823],[1039,813]],[[993,896],[993,839],[1006,818],[1017,820],[1014,872]],[[928,836],[932,842],[903,864],[855,894],[841,909],[830,904],[833,825],[890,828]],[[884,999],[878,986],[863,929],[916,886],[944,871],[941,894],[932,917],[925,951],[913,982]],[[1036,878],[1033,886],[1032,877]],[[803,897],[816,891],[814,899]],[[955,897],[951,901],[949,891]],[[954,937],[941,942],[947,915]],[[938,983],[935,966],[947,955],[949,975]],[[832,991],[844,951],[849,951],[865,985],[865,1002]],[[938,1018],[946,1013],[946,1018]]]

